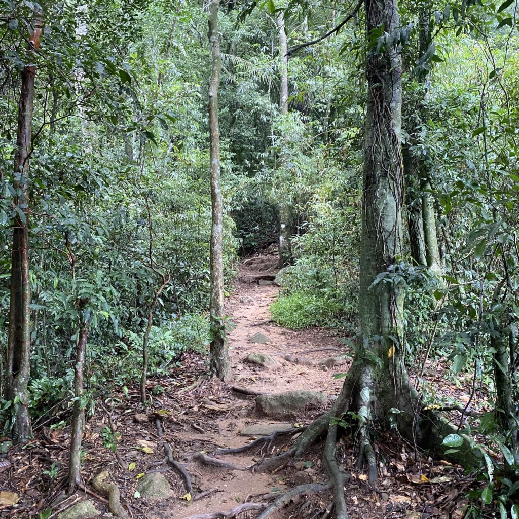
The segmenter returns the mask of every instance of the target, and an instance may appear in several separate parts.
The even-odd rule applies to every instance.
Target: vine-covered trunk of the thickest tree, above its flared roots
[[[400,23],[395,0],[367,0],[368,35],[381,24],[393,34]],[[372,286],[402,255],[403,171],[400,148],[402,69],[388,44],[368,50],[368,102],[365,130],[364,185],[359,314],[364,343],[389,364],[392,346],[380,336],[402,338],[403,292],[393,283]]]

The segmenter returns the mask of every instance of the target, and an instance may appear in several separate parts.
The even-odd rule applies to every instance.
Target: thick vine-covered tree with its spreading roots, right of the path
[[[313,421],[290,449],[253,468],[269,471],[301,458],[325,435],[323,466],[329,481],[302,485],[285,492],[257,519],[266,519],[297,495],[330,488],[333,489],[335,517],[348,517],[344,497],[348,474],[340,469],[336,458],[337,440],[342,433],[339,424],[344,424],[348,417],[352,422],[349,425],[357,429],[360,439],[357,468],[367,470],[372,485],[376,484],[378,470],[370,431],[396,423],[400,434],[412,440],[414,445],[439,450],[441,454],[448,448],[442,445],[445,436],[457,432],[446,420],[423,408],[421,395],[409,383],[404,364],[404,286],[395,275],[395,267],[402,256],[404,225],[400,135],[402,67],[396,37],[400,19],[396,0],[360,0],[353,15],[362,4],[368,41],[368,99],[362,197],[360,344],[333,407]],[[381,27],[385,28],[382,45],[378,36]],[[239,449],[221,449],[218,454],[242,452],[264,441],[260,439]],[[469,438],[463,437],[463,444],[455,456],[465,462],[473,459]]]

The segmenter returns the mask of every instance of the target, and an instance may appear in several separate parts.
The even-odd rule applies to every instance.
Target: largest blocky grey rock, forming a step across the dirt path
[[[271,418],[295,418],[301,411],[321,408],[327,402],[327,395],[317,391],[286,391],[257,397],[256,411]]]

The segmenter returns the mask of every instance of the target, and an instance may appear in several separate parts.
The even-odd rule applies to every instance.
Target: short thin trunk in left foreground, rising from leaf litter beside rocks
[[[82,302],[84,308],[86,302]],[[72,437],[69,461],[69,494],[74,494],[81,484],[79,471],[81,468],[81,437],[85,425],[85,406],[82,402],[84,393],[83,372],[87,352],[89,322],[86,319],[79,330],[76,346],[76,363],[74,364],[74,410],[72,414]]]

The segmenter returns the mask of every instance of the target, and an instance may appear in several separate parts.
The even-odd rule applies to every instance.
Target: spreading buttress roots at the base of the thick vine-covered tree
[[[423,409],[419,394],[409,388],[405,368],[399,369],[398,366],[395,367],[393,364],[388,374],[384,370],[372,367],[365,361],[362,354],[359,354],[353,360],[345,383],[332,407],[313,420],[307,427],[293,428],[289,431],[276,431],[241,447],[221,448],[214,451],[214,455],[218,456],[261,448],[261,459],[254,465],[240,467],[203,453],[195,454],[190,458],[228,470],[276,473],[291,465],[294,461],[301,460],[304,453],[312,445],[325,438],[322,466],[328,476],[326,483],[297,486],[281,495],[260,496],[262,501],[260,503],[245,502],[228,512],[197,515],[190,519],[231,519],[247,510],[262,510],[256,519],[267,519],[298,496],[330,489],[333,491],[333,502],[330,502],[329,506],[323,511],[324,516],[330,517],[333,509],[336,519],[348,519],[344,485],[350,479],[350,474],[342,470],[337,461],[338,440],[340,434],[344,432],[343,428],[351,427],[357,431],[354,434],[358,448],[356,468],[367,473],[371,485],[376,485],[378,480],[378,464],[371,430],[374,424],[383,425],[388,420],[388,413],[395,415],[394,419],[398,420],[398,428],[402,436],[412,439],[415,445],[428,446],[442,456],[445,450],[442,446],[443,439],[446,435],[456,432],[453,426],[448,424],[442,416],[431,414]],[[393,409],[397,409],[398,412],[395,413]],[[284,452],[278,452],[277,455],[269,456],[270,447],[276,438],[282,434],[298,435],[290,448]],[[467,461],[467,457],[470,457],[468,443],[469,439],[464,438],[460,453],[456,455],[465,459],[465,461]],[[264,447],[267,447],[265,453],[263,452]],[[453,456],[447,457],[456,459]],[[254,500],[257,501],[258,496]],[[268,504],[269,502],[270,504]]]

